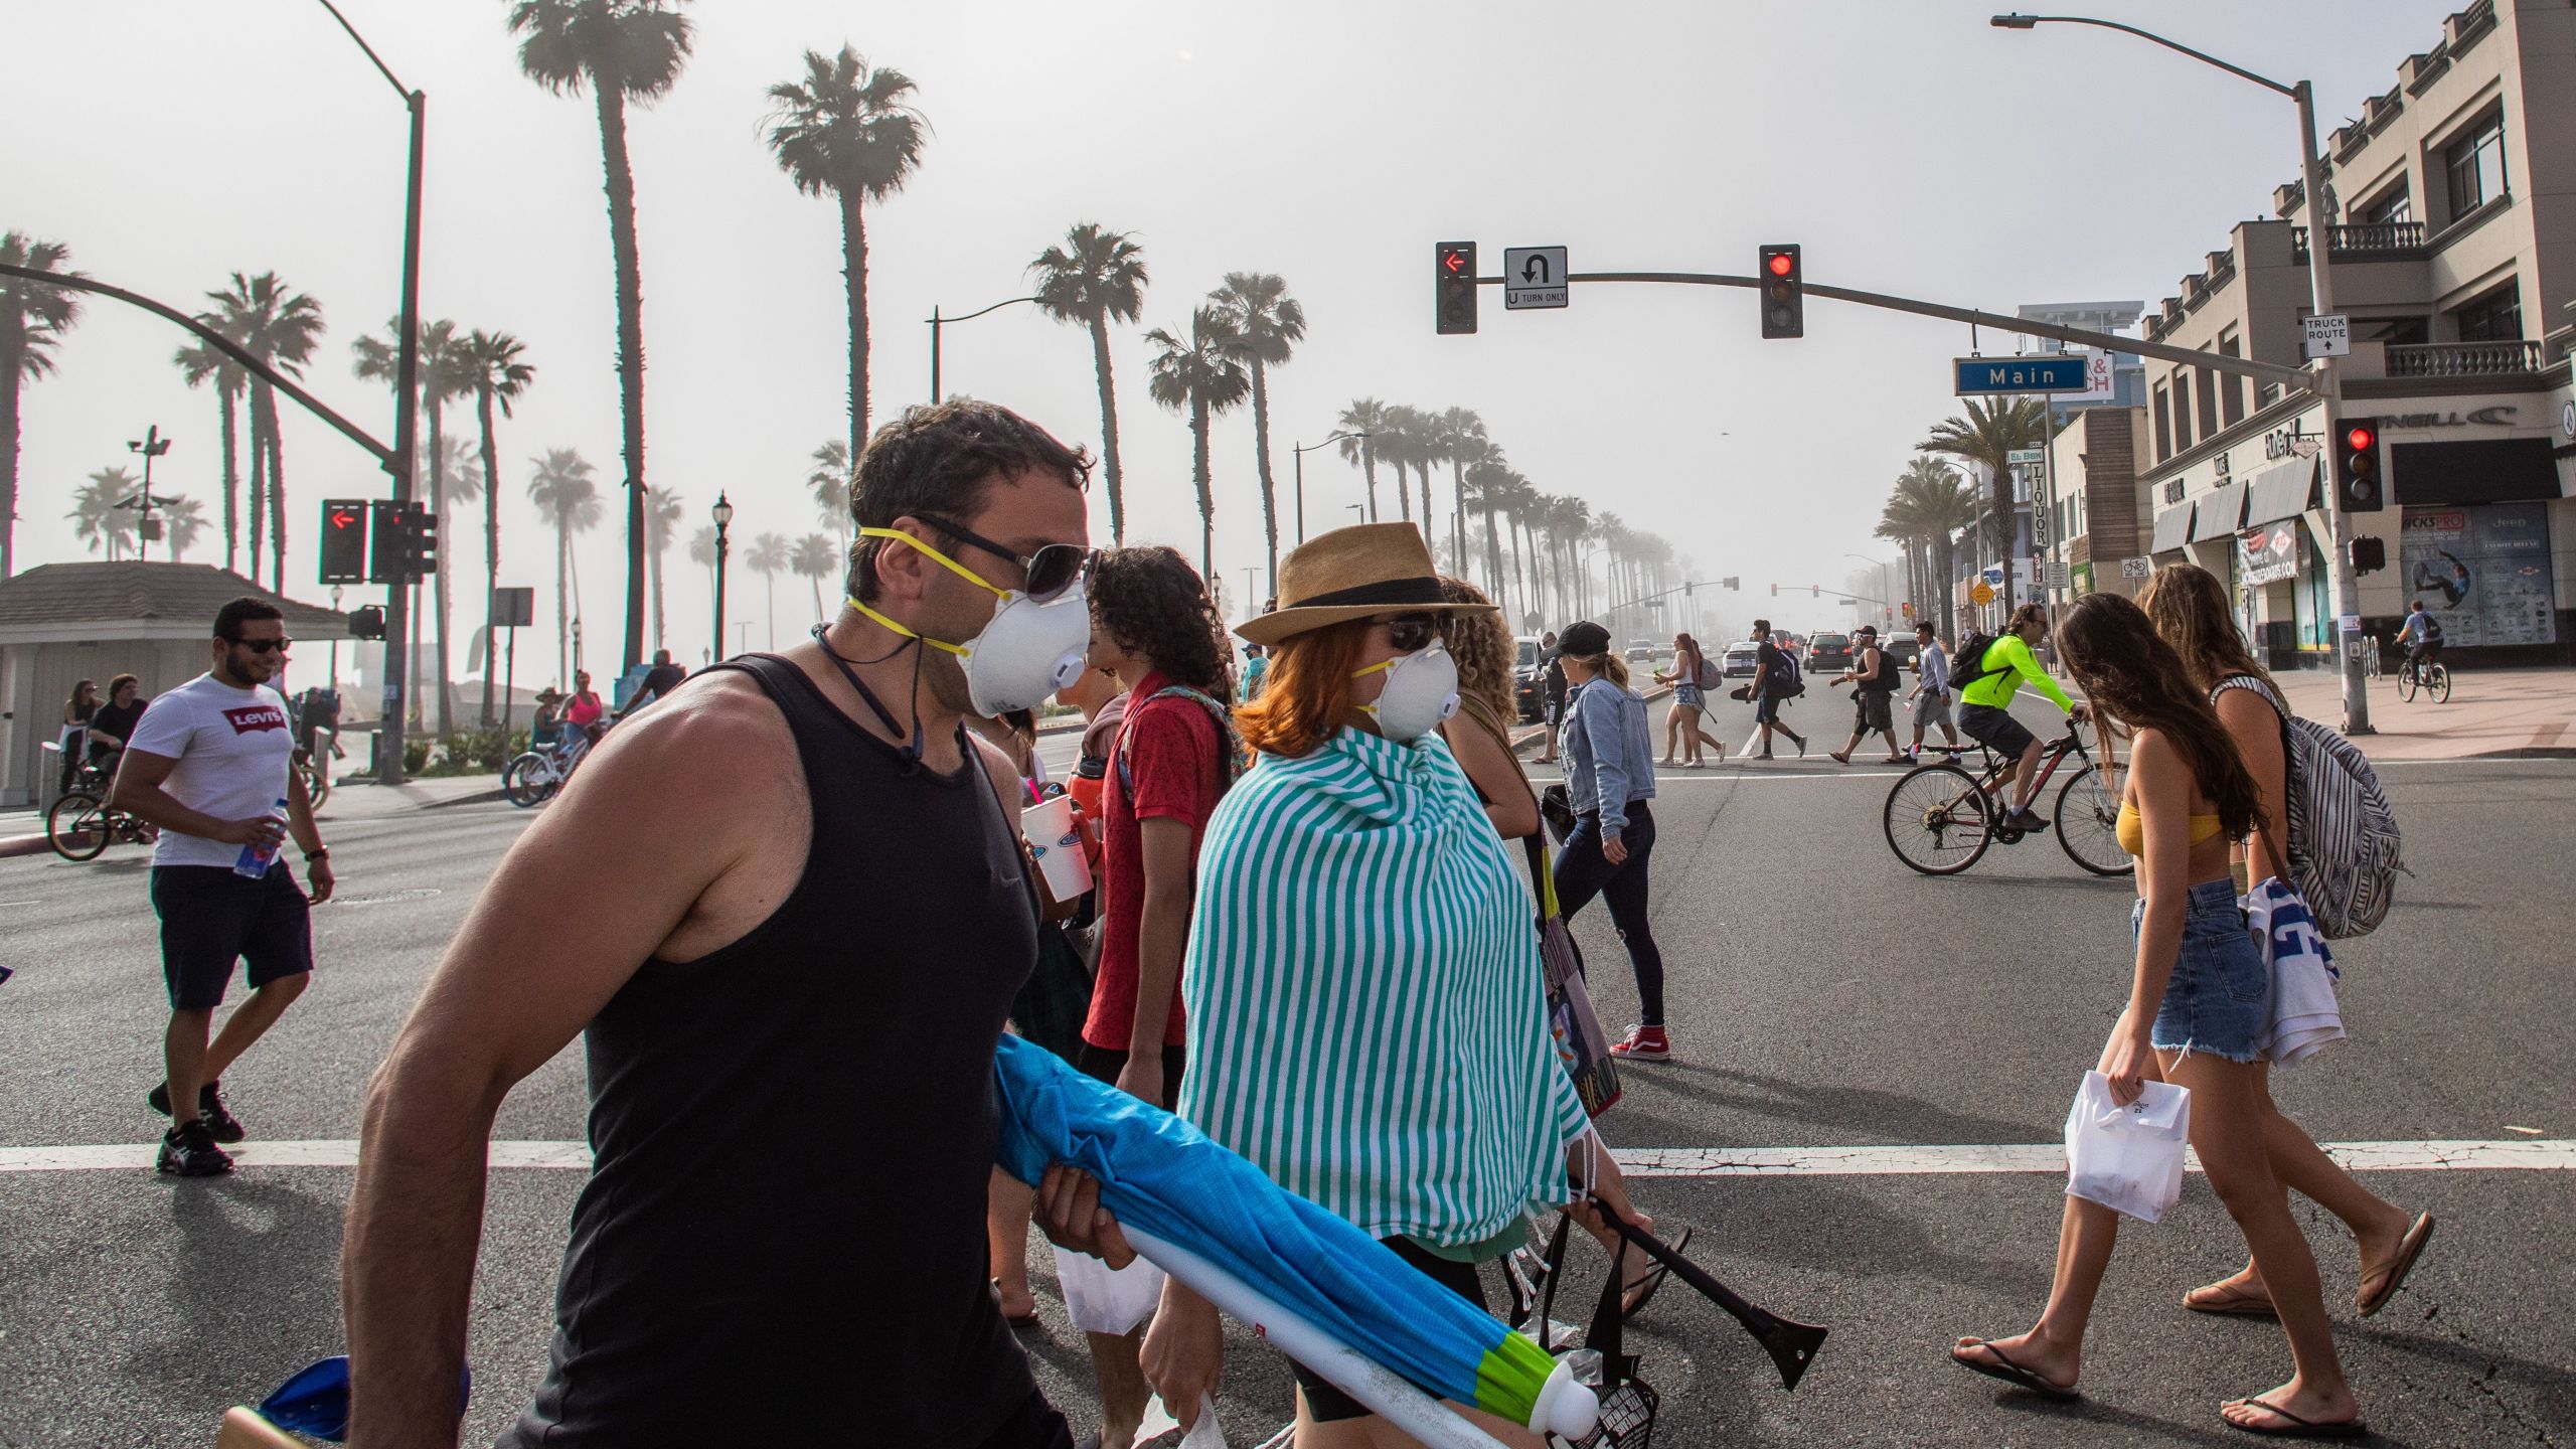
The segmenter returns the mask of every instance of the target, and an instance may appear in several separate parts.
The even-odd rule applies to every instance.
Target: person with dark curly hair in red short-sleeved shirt
[[[1234,779],[1224,629],[1198,570],[1172,549],[1100,554],[1090,598],[1092,663],[1118,676],[1128,706],[1103,789],[1100,972],[1077,1065],[1170,1109],[1185,1067],[1180,959],[1198,841]],[[1149,1395],[1136,1328],[1092,1330],[1090,1341],[1100,1444],[1128,1449]]]

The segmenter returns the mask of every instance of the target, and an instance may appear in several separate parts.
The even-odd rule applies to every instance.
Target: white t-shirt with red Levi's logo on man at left
[[[201,673],[155,699],[126,745],[178,761],[162,784],[170,799],[216,820],[252,820],[286,799],[296,735],[278,691],[232,688]],[[152,864],[229,866],[240,856],[240,846],[162,830]]]

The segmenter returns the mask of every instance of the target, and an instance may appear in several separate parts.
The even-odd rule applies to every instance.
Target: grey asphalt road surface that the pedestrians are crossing
[[[2048,709],[2032,709],[2032,724]],[[1793,709],[1816,750],[1847,706]],[[1749,732],[1721,701],[1728,748]],[[1659,724],[1662,732],[1662,724]],[[1069,737],[1051,737],[1051,753]],[[1631,1147],[2045,1145],[2099,1052],[2128,972],[2128,882],[2081,877],[2045,835],[1973,871],[1901,869],[1878,830],[1896,771],[1811,755],[1664,773],[1656,936],[1677,1060],[1636,1065],[1602,1119]],[[2326,1142],[2576,1137],[2576,1016],[2563,977],[2576,763],[2385,766],[2409,828],[2401,905],[2339,951],[2354,1042],[2290,1070],[2277,1096]],[[335,828],[348,900],[317,913],[319,977],[229,1078],[263,1142],[348,1140],[358,1093],[438,949],[526,817],[464,804]],[[531,869],[544,869],[531,861]],[[160,1075],[162,993],[144,861],[0,861],[0,1150],[139,1145]],[[567,931],[580,928],[567,902]],[[1577,920],[1602,1016],[1633,990],[1600,908]],[[577,1049],[513,1093],[497,1137],[580,1140]],[[817,1145],[822,1150],[822,1145]],[[1819,1158],[1821,1160],[1821,1158]],[[474,1294],[466,1441],[487,1444],[544,1366],[554,1271],[577,1171],[492,1178]],[[2372,1320],[2349,1307],[2339,1225],[2300,1209],[2336,1338],[2388,1444],[2576,1441],[2576,1178],[2566,1171],[2372,1173],[2442,1217],[2409,1289]],[[340,1348],[345,1168],[0,1171],[0,1446],[201,1446]],[[2130,1227],[2105,1287],[2087,1405],[2045,1408],[1942,1361],[1960,1333],[2025,1328],[2048,1292],[2061,1178],[1677,1176],[1641,1183],[1692,1256],[1785,1315],[1832,1325],[1795,1395],[1682,1284],[1633,1328],[1664,1392],[1659,1444],[2239,1444],[2221,1397],[2287,1374],[2259,1320],[2179,1312],[2182,1289],[2244,1245],[2200,1178],[2156,1227]],[[1579,1253],[1582,1320],[1600,1256]],[[1090,1369],[1036,1250],[1043,1323],[1023,1336],[1048,1392],[1090,1418]],[[853,1305],[871,1333],[904,1305]],[[1236,1336],[1218,1400],[1234,1444],[1285,1421],[1280,1359]],[[757,1434],[747,1418],[744,1428]]]

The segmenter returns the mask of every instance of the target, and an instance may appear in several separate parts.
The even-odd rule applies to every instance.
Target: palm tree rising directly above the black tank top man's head
[[[930,121],[912,108],[912,77],[868,67],[853,46],[806,52],[804,80],[770,85],[770,152],[806,196],[840,201],[840,268],[850,304],[850,456],[868,446],[868,201],[884,201],[922,165]]]

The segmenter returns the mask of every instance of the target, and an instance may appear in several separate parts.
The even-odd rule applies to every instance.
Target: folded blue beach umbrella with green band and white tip
[[[1139,1245],[1177,1245],[1193,1269],[1234,1279],[1255,1299],[1288,1310],[1430,1395],[1512,1423],[1535,1418],[1540,1428],[1574,1415],[1577,1397],[1589,1408],[1589,1392],[1551,1392],[1551,1379],[1579,1385],[1546,1348],[1170,1111],[1018,1036],[1002,1036],[994,1078],[1002,1093],[997,1160],[1023,1183],[1036,1186],[1051,1163],[1082,1168],[1100,1178],[1100,1204]],[[1208,1292],[1190,1271],[1162,1269]],[[1309,1366],[1332,1377],[1321,1364]],[[1589,1415],[1579,1418],[1589,1428]]]

